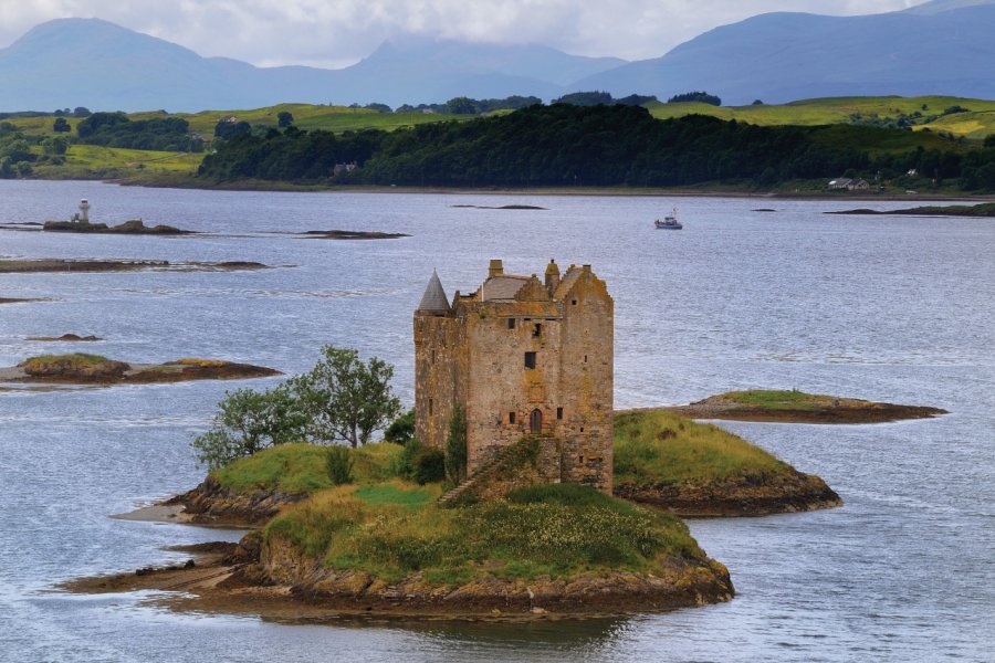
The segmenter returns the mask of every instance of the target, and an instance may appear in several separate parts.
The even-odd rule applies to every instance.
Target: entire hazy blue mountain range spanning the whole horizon
[[[324,70],[201,57],[98,19],[59,19],[0,50],[0,110],[398,106],[455,96],[548,101],[594,90],[661,99],[704,90],[727,105],[884,94],[995,98],[993,33],[995,0],[934,0],[865,17],[762,14],[630,63],[542,45],[401,39],[353,66]]]

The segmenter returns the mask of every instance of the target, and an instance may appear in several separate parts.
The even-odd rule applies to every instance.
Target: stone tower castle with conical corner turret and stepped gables
[[[544,281],[504,273],[452,303],[432,274],[415,312],[416,436],[446,448],[457,404],[467,418],[467,473],[524,435],[555,444],[554,481],[611,492],[615,303],[590,265]],[[544,461],[546,463],[547,461]]]

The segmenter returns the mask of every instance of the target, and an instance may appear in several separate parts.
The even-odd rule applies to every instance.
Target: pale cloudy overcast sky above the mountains
[[[771,11],[850,15],[924,0],[0,0],[0,48],[38,23],[100,18],[260,66],[346,66],[396,34],[544,43],[576,55],[659,57]]]

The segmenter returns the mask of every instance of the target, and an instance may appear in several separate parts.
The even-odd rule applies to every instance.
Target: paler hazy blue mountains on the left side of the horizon
[[[170,42],[97,19],[59,19],[0,50],[0,110],[202,110],[282,102],[437,103],[455,96],[552,98],[614,57],[546,46],[399,40],[344,70],[255,67],[201,57]]]

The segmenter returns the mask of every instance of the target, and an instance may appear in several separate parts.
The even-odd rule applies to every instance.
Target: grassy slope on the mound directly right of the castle
[[[790,465],[766,451],[710,423],[664,411],[615,418],[617,485],[701,484],[790,471]]]

